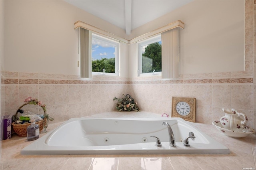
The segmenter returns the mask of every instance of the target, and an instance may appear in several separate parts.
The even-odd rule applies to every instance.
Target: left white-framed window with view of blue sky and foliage
[[[92,74],[119,75],[120,42],[92,34]]]

